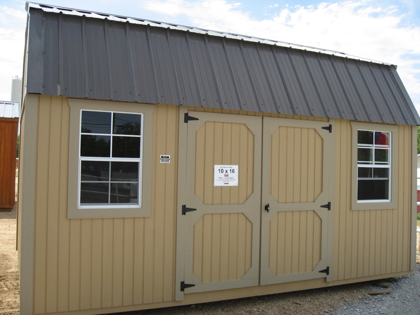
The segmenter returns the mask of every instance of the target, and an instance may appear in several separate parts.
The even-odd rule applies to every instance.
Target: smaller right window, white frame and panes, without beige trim
[[[391,133],[357,130],[357,202],[390,201]]]

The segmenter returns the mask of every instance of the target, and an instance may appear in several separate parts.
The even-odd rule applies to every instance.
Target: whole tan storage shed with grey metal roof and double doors
[[[412,273],[420,118],[396,66],[26,6],[21,314]]]

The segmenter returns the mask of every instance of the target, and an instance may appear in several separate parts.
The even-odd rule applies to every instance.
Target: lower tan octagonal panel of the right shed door
[[[269,228],[269,266],[276,275],[315,268],[321,259],[321,219],[315,211],[280,211]]]

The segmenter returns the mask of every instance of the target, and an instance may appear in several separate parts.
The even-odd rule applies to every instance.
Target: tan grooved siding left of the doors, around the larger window
[[[178,107],[154,113],[150,218],[67,219],[69,116],[66,98],[40,96],[34,312],[173,300]]]

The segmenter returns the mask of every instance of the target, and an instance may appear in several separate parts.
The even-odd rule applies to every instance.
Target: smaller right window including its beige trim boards
[[[350,121],[352,126],[352,210],[396,209],[397,125]]]

